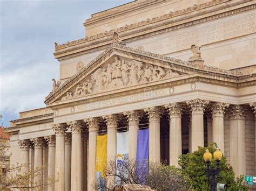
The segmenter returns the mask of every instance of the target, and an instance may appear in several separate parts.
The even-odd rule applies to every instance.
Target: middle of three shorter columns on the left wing
[[[32,138],[31,141],[35,145],[35,171],[38,171],[37,176],[34,178],[34,185],[41,185],[43,183],[43,144],[44,138]]]

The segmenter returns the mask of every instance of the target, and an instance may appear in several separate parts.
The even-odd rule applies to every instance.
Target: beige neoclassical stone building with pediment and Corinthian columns
[[[55,44],[60,79],[45,108],[11,121],[11,162],[59,174],[48,190],[92,190],[96,136],[149,127],[149,160],[215,142],[237,175],[255,175],[255,1],[138,0],[95,13],[86,37]],[[200,46],[199,46],[200,45]],[[28,169],[23,169],[27,171]]]

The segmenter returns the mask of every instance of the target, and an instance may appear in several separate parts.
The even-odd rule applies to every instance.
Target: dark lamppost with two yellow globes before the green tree
[[[215,176],[217,176],[217,179],[220,178],[220,160],[222,158],[222,153],[220,152],[220,149],[217,147],[216,151],[213,153],[214,160],[216,161],[217,168],[214,167],[210,168],[210,162],[212,160],[212,154],[209,152],[208,149],[206,149],[204,153],[204,160],[206,162],[206,172],[207,172],[207,179],[211,179],[211,191],[215,191]]]

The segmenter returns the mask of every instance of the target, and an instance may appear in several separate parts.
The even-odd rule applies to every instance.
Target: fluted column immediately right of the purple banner
[[[149,116],[149,161],[160,163],[160,110],[151,107],[144,111]]]

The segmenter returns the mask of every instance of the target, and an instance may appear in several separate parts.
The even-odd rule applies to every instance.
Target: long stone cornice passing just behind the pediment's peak
[[[193,10],[188,12],[183,10],[176,11],[178,15],[174,14],[171,17],[169,17],[169,14],[166,14],[167,16],[164,15],[161,17],[152,18],[151,19],[152,22],[149,22],[149,20],[146,20],[144,22],[140,22],[137,24],[121,27],[120,29],[117,29],[117,30],[112,30],[107,34],[100,33],[100,34],[96,34],[96,36],[93,36],[93,37],[87,37],[87,38],[79,39],[76,41],[68,42],[63,45],[58,45],[56,46],[55,58],[58,58],[59,60],[60,58],[66,59],[66,58],[69,58],[70,56],[72,57],[72,56],[77,56],[78,54],[79,55],[86,54],[88,52],[96,51],[96,49],[103,49],[103,48],[109,47],[110,44],[112,43],[112,34],[114,32],[119,32],[120,37],[123,39],[124,43],[129,43],[131,41],[147,38],[150,36],[154,36],[156,34],[177,30],[183,27],[195,25],[198,23],[203,23],[208,20],[213,20],[220,17],[233,15],[238,12],[255,9],[255,4],[253,3],[248,3],[248,6],[244,6],[244,7],[241,6],[240,8],[235,7],[236,5],[239,5],[241,3],[244,4],[246,2],[250,2],[250,0],[230,1],[230,2],[226,2],[228,3],[228,6],[230,6],[230,9],[227,12],[225,10],[225,8],[227,8],[227,5],[226,3],[223,3],[223,2],[226,2],[226,0],[223,0],[221,3],[217,3],[217,4],[213,3],[213,5],[219,5],[217,8],[214,8],[213,5],[209,5],[206,7],[203,6],[203,8],[202,8],[202,5],[197,5],[198,9],[196,10],[194,10],[194,8],[192,7],[192,8],[188,8],[188,10],[189,9],[193,9]],[[211,8],[212,6],[213,8]],[[205,8],[210,9],[210,10],[207,10],[207,13],[210,14],[211,12],[213,12],[212,16],[208,16],[208,17],[203,16],[205,15],[205,10],[202,10],[202,11],[200,10]],[[224,10],[224,11],[221,12],[221,10]],[[217,12],[217,14],[214,12]],[[197,18],[199,16],[201,18]],[[192,20],[191,22],[185,22],[187,18],[192,18],[194,20]],[[181,21],[183,21],[184,23],[182,23]],[[169,25],[170,27],[166,27]],[[149,33],[149,26],[151,29],[150,33]],[[144,32],[144,34],[141,34],[142,31]],[[138,36],[138,33],[140,33],[139,36]]]

